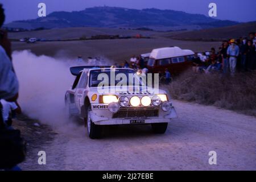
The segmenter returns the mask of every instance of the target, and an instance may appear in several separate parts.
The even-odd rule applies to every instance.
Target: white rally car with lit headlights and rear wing
[[[65,93],[67,113],[84,118],[92,139],[101,137],[103,125],[151,124],[155,133],[163,134],[170,119],[177,118],[170,97],[164,90],[159,89],[155,94],[152,87],[144,86],[146,91],[142,92],[141,85],[133,84],[127,85],[126,91],[120,91],[114,89],[117,87],[117,82],[114,82],[114,88],[113,84],[108,87],[114,92],[99,92],[100,73],[111,77],[114,72],[115,75],[121,73],[128,77],[129,74],[136,75],[133,69],[84,66],[71,67],[70,70],[76,78],[72,88]]]

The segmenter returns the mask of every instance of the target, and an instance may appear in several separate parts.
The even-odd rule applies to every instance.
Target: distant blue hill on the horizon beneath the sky
[[[154,30],[180,30],[223,27],[238,24],[229,20],[218,20],[200,14],[159,9],[126,9],[122,7],[92,7],[82,11],[58,11],[46,17],[19,20],[6,27],[34,29],[66,27],[147,27]]]

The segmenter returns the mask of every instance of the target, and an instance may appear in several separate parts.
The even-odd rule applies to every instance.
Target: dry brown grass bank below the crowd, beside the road
[[[214,105],[225,109],[256,115],[256,73],[237,73],[224,76],[218,73],[185,72],[169,87],[171,96],[178,100]]]

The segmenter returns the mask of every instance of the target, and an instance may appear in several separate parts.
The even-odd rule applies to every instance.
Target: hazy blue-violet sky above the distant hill
[[[249,22],[256,20],[256,0],[0,0],[6,22],[38,18],[38,4],[46,3],[47,14],[53,11],[80,11],[87,7],[114,6],[130,9],[169,9],[208,16],[209,3],[217,5],[217,19]]]

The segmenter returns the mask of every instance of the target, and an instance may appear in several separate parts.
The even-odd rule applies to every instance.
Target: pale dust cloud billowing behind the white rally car
[[[20,86],[18,102],[23,113],[53,127],[71,124],[65,114],[64,96],[74,80],[69,67],[81,63],[36,56],[25,50],[13,53],[13,64]]]

